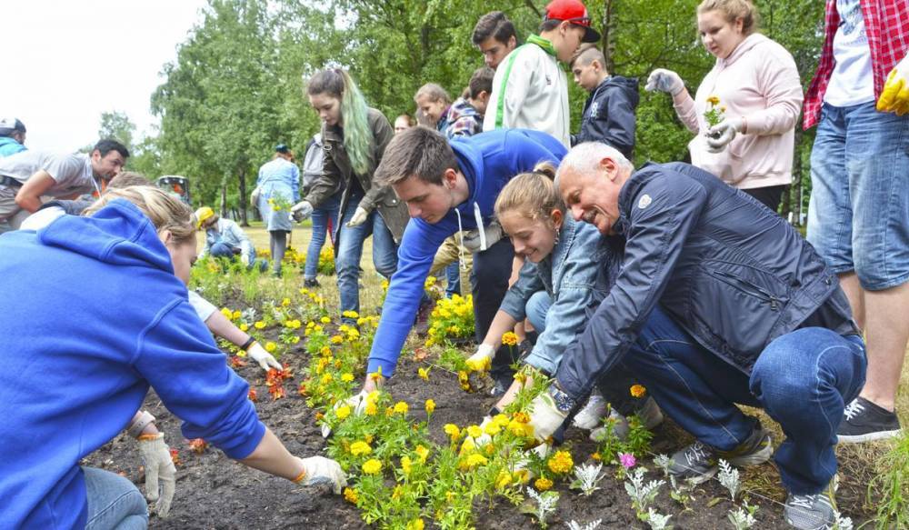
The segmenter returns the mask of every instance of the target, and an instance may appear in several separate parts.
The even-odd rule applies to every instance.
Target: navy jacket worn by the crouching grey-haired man
[[[621,271],[556,373],[574,399],[622,360],[657,304],[717,362],[744,374],[774,338],[799,327],[857,333],[836,275],[814,247],[702,169],[644,166],[622,186],[619,215]]]

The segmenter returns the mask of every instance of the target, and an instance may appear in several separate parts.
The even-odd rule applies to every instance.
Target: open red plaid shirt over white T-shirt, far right
[[[864,31],[871,49],[871,69],[874,75],[874,97],[880,97],[887,75],[909,50],[909,0],[861,0]],[[804,128],[808,129],[821,118],[824,93],[834,72],[834,35],[840,25],[836,0],[827,0],[824,15],[824,49],[817,72],[804,96]]]

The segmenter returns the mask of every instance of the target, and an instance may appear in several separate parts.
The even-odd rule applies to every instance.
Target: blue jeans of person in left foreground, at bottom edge
[[[148,505],[138,488],[123,476],[83,467],[88,519],[85,530],[141,530],[148,527]]]

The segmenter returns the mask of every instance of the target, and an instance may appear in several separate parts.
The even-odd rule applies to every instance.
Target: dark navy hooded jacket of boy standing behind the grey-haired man
[[[636,77],[606,77],[587,97],[581,115],[581,130],[572,136],[572,145],[603,142],[632,160],[635,112],[639,100]]]

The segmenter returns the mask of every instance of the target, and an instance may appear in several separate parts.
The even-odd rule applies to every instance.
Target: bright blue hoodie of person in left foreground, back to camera
[[[186,300],[155,227],[113,201],[0,236],[0,526],[83,528],[79,460],[122,431],[149,385],[231,458],[265,425]]]

